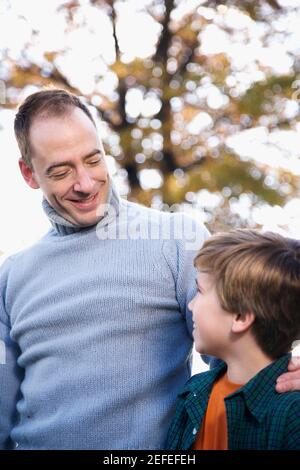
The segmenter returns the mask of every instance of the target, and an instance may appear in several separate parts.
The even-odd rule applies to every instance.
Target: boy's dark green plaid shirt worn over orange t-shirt
[[[300,392],[279,394],[276,379],[286,372],[287,354],[225,398],[228,449],[300,450]],[[201,429],[214,382],[226,364],[194,375],[179,394],[166,449],[187,450]]]

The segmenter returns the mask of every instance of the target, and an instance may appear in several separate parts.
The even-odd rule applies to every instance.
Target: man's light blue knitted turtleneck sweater
[[[195,249],[178,227],[197,248],[208,232],[121,200],[113,184],[108,202],[80,229],[44,201],[53,228],[1,266],[2,449],[164,446],[192,347]]]

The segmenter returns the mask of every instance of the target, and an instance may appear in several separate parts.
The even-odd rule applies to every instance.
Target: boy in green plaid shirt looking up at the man
[[[194,264],[195,348],[224,362],[187,382],[166,448],[300,449],[300,392],[275,390],[300,338],[300,242],[235,230]]]

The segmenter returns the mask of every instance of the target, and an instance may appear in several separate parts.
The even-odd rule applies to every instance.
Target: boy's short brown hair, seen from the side
[[[194,265],[213,276],[224,310],[255,315],[252,333],[269,357],[290,351],[300,337],[299,241],[233,230],[208,239]]]

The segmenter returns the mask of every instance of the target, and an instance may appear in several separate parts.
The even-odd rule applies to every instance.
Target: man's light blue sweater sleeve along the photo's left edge
[[[19,348],[10,337],[10,321],[5,308],[7,277],[11,260],[0,267],[0,450],[14,447],[10,433],[15,424],[21,370],[17,365]]]

